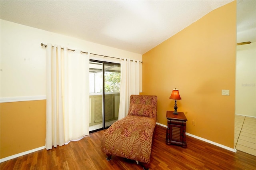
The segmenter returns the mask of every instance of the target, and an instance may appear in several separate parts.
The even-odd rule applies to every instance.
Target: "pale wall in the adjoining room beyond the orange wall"
[[[236,51],[236,114],[256,117],[256,42]]]

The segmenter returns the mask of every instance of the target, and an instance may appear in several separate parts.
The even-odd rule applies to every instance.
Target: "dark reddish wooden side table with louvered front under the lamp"
[[[186,148],[186,121],[188,120],[183,112],[178,112],[178,115],[173,114],[173,112],[166,111],[166,119],[168,121],[166,144],[177,144],[182,148]]]

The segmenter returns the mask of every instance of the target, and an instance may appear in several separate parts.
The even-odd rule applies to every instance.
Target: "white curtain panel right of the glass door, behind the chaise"
[[[140,63],[131,59],[120,59],[121,83],[118,120],[126,117],[130,105],[130,95],[140,94]]]

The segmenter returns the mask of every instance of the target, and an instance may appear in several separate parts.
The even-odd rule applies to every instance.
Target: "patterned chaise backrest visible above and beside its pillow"
[[[130,96],[130,108],[133,104],[136,105],[152,105],[152,118],[156,118],[156,105],[157,96],[153,95],[131,95]]]

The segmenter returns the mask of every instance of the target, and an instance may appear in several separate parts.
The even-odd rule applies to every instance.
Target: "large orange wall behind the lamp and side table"
[[[236,1],[206,14],[142,59],[141,94],[158,96],[159,123],[167,125],[166,111],[174,110],[169,97],[177,88],[186,132],[234,148]],[[230,95],[221,95],[222,89]]]

